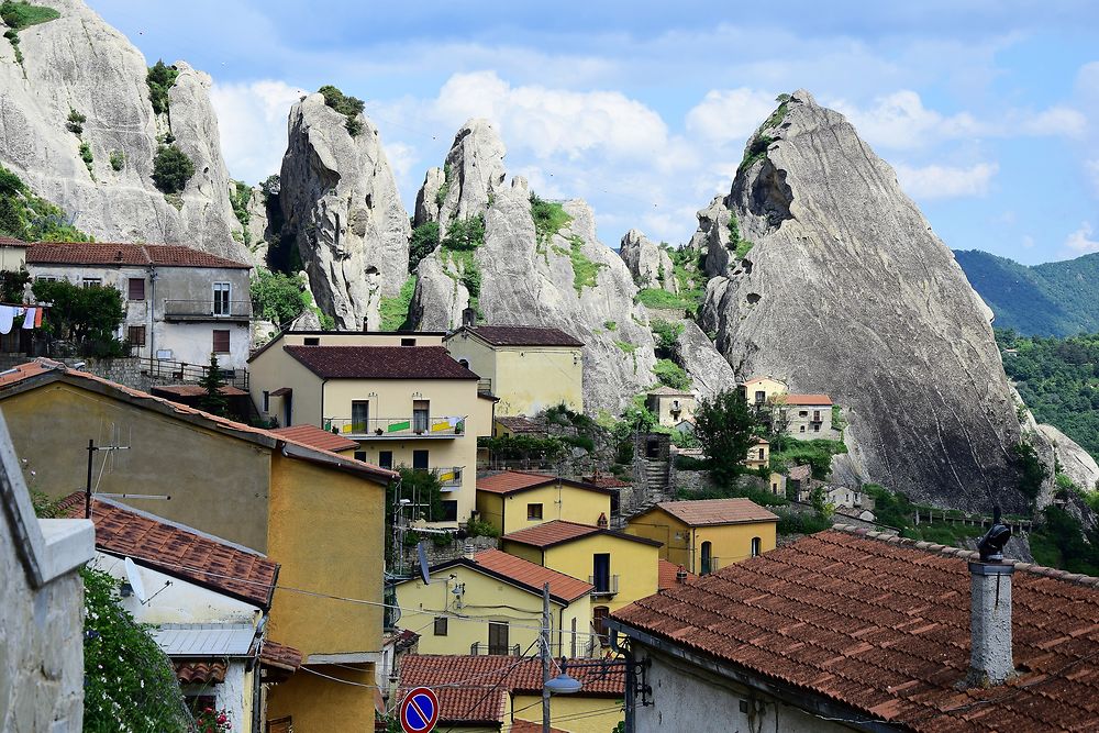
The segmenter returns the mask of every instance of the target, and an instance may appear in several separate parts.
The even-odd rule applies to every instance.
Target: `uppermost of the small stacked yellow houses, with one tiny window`
[[[504,470],[477,479],[477,513],[500,534],[565,520],[606,527],[618,491],[546,474]]]

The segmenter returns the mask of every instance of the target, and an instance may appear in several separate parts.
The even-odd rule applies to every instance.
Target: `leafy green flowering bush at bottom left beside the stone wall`
[[[119,581],[84,568],[84,730],[192,730],[176,673],[148,626],[118,597]]]

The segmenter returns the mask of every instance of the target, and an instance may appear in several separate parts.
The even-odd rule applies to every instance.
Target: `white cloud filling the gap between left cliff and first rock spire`
[[[221,149],[230,174],[256,184],[279,171],[286,152],[286,120],[304,90],[285,81],[214,84],[210,101],[218,113]]]

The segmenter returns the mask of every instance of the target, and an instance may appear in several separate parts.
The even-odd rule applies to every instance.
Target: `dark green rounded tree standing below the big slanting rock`
[[[695,408],[695,435],[719,484],[730,484],[744,471],[741,462],[752,447],[755,429],[755,415],[740,390],[724,390],[713,399],[699,400]]]

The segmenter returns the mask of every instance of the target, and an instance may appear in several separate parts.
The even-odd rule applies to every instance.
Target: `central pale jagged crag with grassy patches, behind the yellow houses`
[[[441,229],[456,219],[484,215],[485,241],[471,253],[480,274],[476,304],[485,323],[552,325],[585,342],[585,409],[617,414],[629,399],[655,381],[653,335],[637,288],[622,259],[596,238],[595,218],[582,201],[563,203],[570,221],[540,238],[531,215],[526,181],[504,182],[504,147],[491,125],[471,120],[447,155],[449,188],[441,207]],[[429,174],[418,201],[433,201]],[[418,207],[419,210],[419,207]],[[425,221],[433,221],[430,211]],[[470,302],[466,264],[445,247],[425,257],[411,322],[420,329],[460,323]]]

